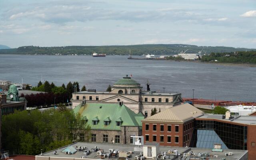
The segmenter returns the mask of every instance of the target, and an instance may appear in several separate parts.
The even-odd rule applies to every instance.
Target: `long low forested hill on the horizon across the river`
[[[202,50],[203,49],[203,50]],[[77,54],[91,55],[92,53],[105,53],[108,55],[129,55],[131,50],[132,55],[142,54],[178,54],[188,50],[186,53],[198,53],[202,50],[202,54],[210,54],[211,52],[237,52],[250,51],[256,49],[234,48],[224,46],[196,46],[188,44],[140,44],[129,46],[63,46],[63,47],[39,47],[39,46],[22,46],[19,48],[2,49],[0,54]]]

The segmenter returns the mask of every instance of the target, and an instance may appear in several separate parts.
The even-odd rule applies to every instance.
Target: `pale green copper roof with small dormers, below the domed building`
[[[121,126],[141,128],[141,120],[144,119],[142,113],[136,114],[125,105],[119,106],[119,104],[86,103],[84,106],[79,104],[73,111],[80,113],[83,117],[86,116],[88,121],[85,125],[98,130],[121,130],[120,126],[116,126],[116,122],[122,122]],[[98,120],[98,124],[93,125],[93,120]],[[109,120],[109,125],[105,125],[104,120]]]

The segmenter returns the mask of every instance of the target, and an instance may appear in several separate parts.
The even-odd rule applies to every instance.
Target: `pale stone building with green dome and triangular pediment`
[[[131,77],[118,80],[111,86],[111,91],[87,91],[74,92],[72,94],[72,105],[77,106],[83,102],[101,104],[119,104],[123,102],[133,112],[142,112],[146,117],[150,116],[152,108],[165,110],[172,106],[181,104],[180,93],[157,93],[150,90],[147,83],[147,90],[143,91],[142,86]]]

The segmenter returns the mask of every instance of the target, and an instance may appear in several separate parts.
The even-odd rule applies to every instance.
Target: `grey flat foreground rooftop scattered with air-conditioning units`
[[[138,146],[136,145],[129,145],[129,144],[107,144],[107,143],[89,143],[89,142],[76,142],[74,144],[70,144],[69,146],[73,146],[74,148],[76,148],[76,146],[81,146],[81,147],[86,146],[88,149],[94,148],[94,146],[97,146],[97,148],[103,149],[104,152],[107,152],[107,153],[109,149],[129,152],[129,151],[134,151],[135,148],[138,148]],[[61,152],[67,147],[68,146],[64,146],[56,150],[43,153],[42,155],[38,155],[38,156],[59,157],[59,158],[81,158],[82,156],[85,156],[83,150],[82,151],[78,150],[75,154],[65,154],[64,152]],[[142,149],[143,147],[140,146],[140,148]],[[191,151],[196,155],[199,152],[208,153],[209,156],[210,155],[212,156],[210,157],[211,160],[220,160],[221,158],[226,158],[226,160],[239,160],[240,157],[242,157],[247,152],[247,150],[224,150],[223,152],[212,152],[211,149],[209,148],[187,148],[187,147],[171,147],[171,146],[160,146],[159,152],[168,153],[168,150],[174,150],[174,149],[178,150],[179,153],[189,153]],[[55,151],[57,152],[56,154],[54,154]],[[100,157],[96,156],[97,152],[94,152],[93,150],[90,150],[90,152],[91,153],[86,156],[87,159],[100,159]],[[140,151],[140,152],[143,153],[143,151]],[[134,154],[131,154],[129,159],[134,160],[134,157],[138,156],[140,152],[134,152]],[[225,153],[227,152],[232,152],[233,156],[225,156]],[[176,157],[173,156],[173,153],[169,155],[170,155],[170,160],[176,159]],[[214,155],[218,157],[213,157]],[[118,157],[109,158],[109,159],[116,160],[118,159]]]

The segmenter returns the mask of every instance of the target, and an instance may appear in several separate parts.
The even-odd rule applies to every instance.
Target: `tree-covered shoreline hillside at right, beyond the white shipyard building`
[[[217,61],[216,61],[217,60]],[[229,53],[211,53],[202,56],[203,62],[221,62],[221,63],[248,63],[256,64],[256,51],[248,52],[229,52]]]

